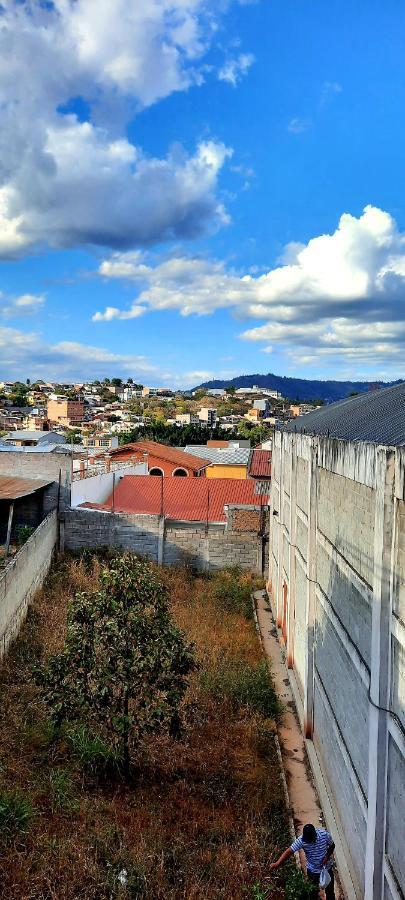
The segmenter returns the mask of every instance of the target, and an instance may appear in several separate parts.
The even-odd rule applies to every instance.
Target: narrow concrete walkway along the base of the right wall
[[[257,591],[254,599],[263,650],[271,660],[275,688],[285,707],[282,722],[278,728],[278,737],[294,828],[296,834],[300,834],[307,822],[312,822],[315,828],[325,827],[324,817],[311,774],[304,736],[298,721],[284,653],[278,640],[277,628],[266,591]],[[304,862],[304,860],[302,861]],[[337,900],[343,900],[343,893],[338,884],[335,894]]]

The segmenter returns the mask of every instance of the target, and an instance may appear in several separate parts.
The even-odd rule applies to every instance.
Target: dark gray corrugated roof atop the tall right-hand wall
[[[321,406],[293,419],[285,431],[391,447],[405,444],[405,382]]]

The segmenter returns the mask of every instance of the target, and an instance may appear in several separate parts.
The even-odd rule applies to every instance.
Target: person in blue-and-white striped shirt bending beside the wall
[[[313,884],[319,884],[321,870],[326,866],[330,875],[330,884],[326,888],[326,900],[335,900],[335,887],[332,869],[332,853],[335,845],[324,828],[315,828],[314,825],[304,825],[301,837],[297,838],[291,847],[284,850],[279,859],[272,863],[270,870],[278,869],[290,859],[298,850],[303,850],[307,861],[307,877]]]

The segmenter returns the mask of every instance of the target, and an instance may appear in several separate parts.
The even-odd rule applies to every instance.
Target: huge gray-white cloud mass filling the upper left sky
[[[220,15],[214,0],[2,4],[0,256],[143,247],[227,221],[223,144],[151,158],[127,137],[141,109],[202,83]],[[237,58],[235,81],[250,63]]]

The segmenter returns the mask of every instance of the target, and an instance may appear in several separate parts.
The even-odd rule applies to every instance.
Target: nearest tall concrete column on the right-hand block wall
[[[369,704],[368,813],[364,896],[383,900],[386,829],[391,613],[395,554],[395,454],[379,447],[376,461],[373,610]]]

